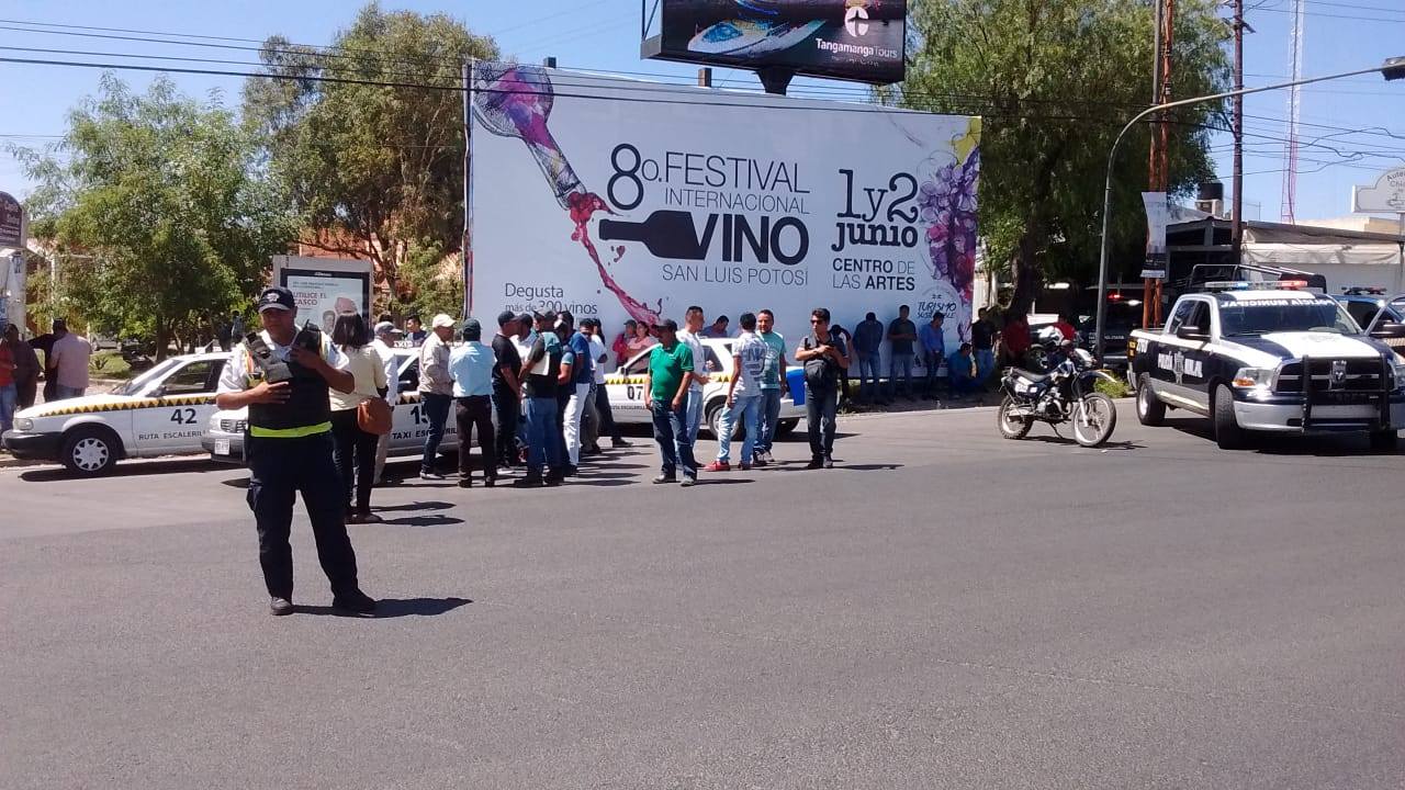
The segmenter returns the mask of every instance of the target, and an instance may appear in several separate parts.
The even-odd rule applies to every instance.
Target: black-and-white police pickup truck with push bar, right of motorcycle
[[[1166,409],[1214,422],[1222,448],[1253,432],[1366,432],[1391,450],[1405,426],[1405,363],[1331,297],[1286,283],[1208,283],[1176,301],[1159,330],[1132,332],[1137,416],[1162,423]]]

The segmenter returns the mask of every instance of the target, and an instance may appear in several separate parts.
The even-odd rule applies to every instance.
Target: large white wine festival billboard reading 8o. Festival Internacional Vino
[[[947,315],[968,337],[979,118],[663,87],[530,65],[473,75],[481,319],[569,309],[606,332],[770,308],[798,343],[826,306]]]

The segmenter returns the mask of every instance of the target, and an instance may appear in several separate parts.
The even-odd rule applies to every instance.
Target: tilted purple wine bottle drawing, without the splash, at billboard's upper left
[[[473,112],[489,132],[517,138],[537,159],[556,202],[569,208],[568,195],[584,191],[566,155],[547,128],[551,117],[551,77],[541,66],[523,63],[476,63],[473,66]]]

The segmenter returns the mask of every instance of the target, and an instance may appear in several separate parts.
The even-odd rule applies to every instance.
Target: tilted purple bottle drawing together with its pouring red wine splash
[[[576,226],[570,239],[580,242],[586,249],[586,254],[596,264],[600,281],[620,299],[629,318],[651,325],[658,323],[663,299],[659,299],[658,309],[651,309],[615,283],[600,261],[600,253],[590,238],[590,219],[601,211],[614,212],[600,195],[586,190],[580,183],[566,155],[561,152],[561,146],[547,128],[554,94],[545,69],[521,63],[481,63],[473,70],[476,93],[473,111],[483,128],[495,135],[517,138],[527,143],[527,149],[537,159],[542,176],[556,195],[556,202],[570,214],[570,221]],[[617,256],[615,261],[618,260]]]

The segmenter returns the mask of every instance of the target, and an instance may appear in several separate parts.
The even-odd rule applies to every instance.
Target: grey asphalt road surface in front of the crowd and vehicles
[[[302,517],[266,613],[236,470],[4,471],[0,786],[1401,787],[1405,457],[1172,423],[416,481],[351,527],[375,620],[325,616]]]

